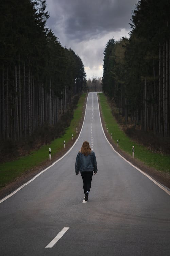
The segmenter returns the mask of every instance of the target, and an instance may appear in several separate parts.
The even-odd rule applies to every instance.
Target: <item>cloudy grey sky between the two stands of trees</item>
[[[61,45],[82,59],[87,79],[102,77],[103,51],[109,39],[129,37],[137,0],[46,0],[47,27]]]

